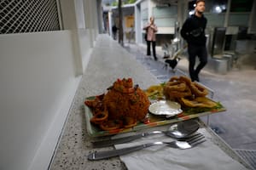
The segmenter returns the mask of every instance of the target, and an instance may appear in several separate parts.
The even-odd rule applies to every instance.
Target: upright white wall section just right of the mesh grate
[[[61,0],[64,29],[73,30],[73,44],[77,74],[82,74],[90,59],[92,48],[98,36],[98,13],[101,10],[96,0]]]

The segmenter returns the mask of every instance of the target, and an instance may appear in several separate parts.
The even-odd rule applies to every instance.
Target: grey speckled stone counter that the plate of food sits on
[[[118,42],[113,41],[108,35],[99,35],[49,169],[126,169],[119,158],[107,161],[87,160],[87,155],[94,149],[90,144],[92,139],[86,131],[84,117],[84,99],[105,93],[117,78],[123,77],[131,77],[141,88],[159,83],[159,80],[137,63],[131,54],[120,48]],[[97,150],[110,148],[112,147]]]

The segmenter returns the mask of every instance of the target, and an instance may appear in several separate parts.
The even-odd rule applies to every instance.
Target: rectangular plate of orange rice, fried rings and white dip
[[[219,102],[208,99],[200,92],[183,97],[188,94],[189,88],[194,89],[195,86],[185,82],[188,87],[184,88],[184,84],[180,83],[187,79],[172,79],[174,81],[154,85],[150,90],[133,85],[131,78],[118,79],[107,88],[106,93],[85,98],[84,114],[88,134],[100,137],[128,133],[225,111]],[[181,91],[183,88],[184,92]],[[201,92],[203,90],[201,88]],[[152,96],[154,99],[151,99]]]

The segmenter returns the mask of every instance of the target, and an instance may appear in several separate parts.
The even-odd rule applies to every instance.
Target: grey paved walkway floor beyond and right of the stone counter
[[[163,82],[174,75],[188,73],[186,58],[178,63],[179,71],[173,72],[164,68],[160,62],[161,56],[159,61],[154,61],[145,55],[144,46],[126,44],[125,48]],[[201,83],[213,89],[213,99],[227,108],[225,112],[210,116],[209,125],[234,149],[256,150],[255,65],[243,65],[225,75],[214,74],[207,69],[201,71]],[[207,121],[207,118],[202,117],[202,120]]]

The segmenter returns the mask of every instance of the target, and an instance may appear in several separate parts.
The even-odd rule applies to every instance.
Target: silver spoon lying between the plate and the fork
[[[142,137],[147,137],[152,134],[159,134],[164,133],[166,136],[172,137],[174,139],[185,139],[190,134],[195,133],[199,129],[198,122],[195,122],[194,120],[188,120],[183,122],[177,122],[175,124],[172,124],[171,127],[168,128],[166,131],[152,131],[152,132],[146,132],[146,133],[138,133],[131,136],[125,136],[117,139],[106,139],[106,140],[100,140],[100,141],[94,141],[92,142],[94,148],[99,147],[107,147],[111,146],[113,144],[123,144],[126,142],[131,142],[135,139],[140,139]]]

